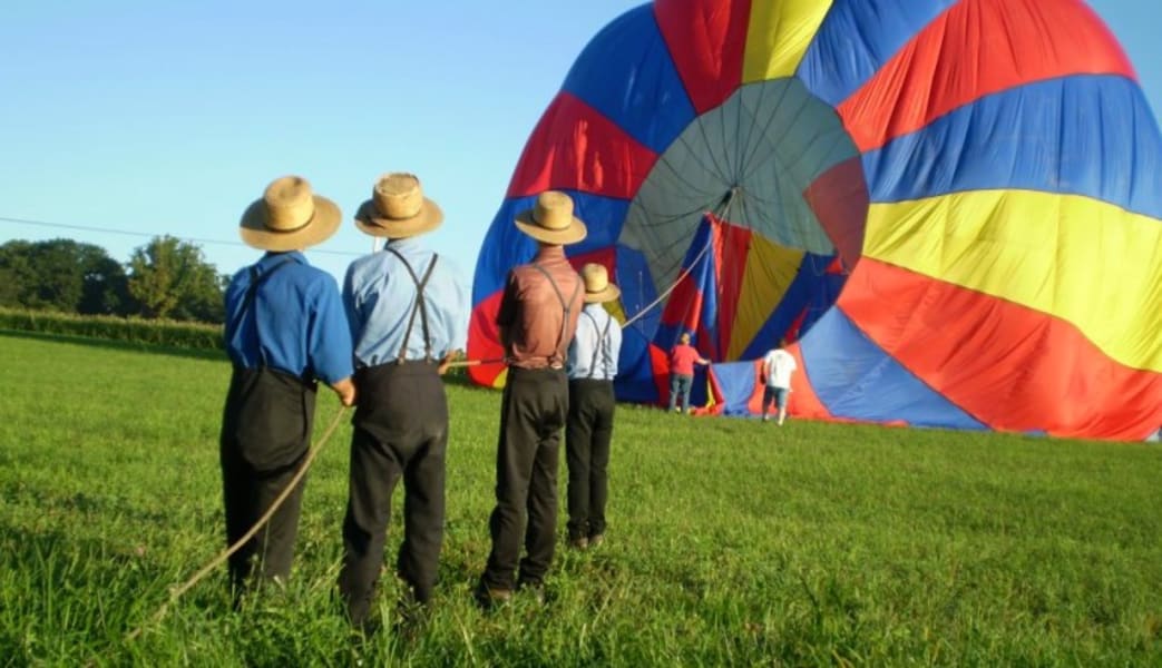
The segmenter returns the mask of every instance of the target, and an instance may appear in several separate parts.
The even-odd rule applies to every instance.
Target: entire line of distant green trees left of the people
[[[201,247],[155,237],[125,264],[72,239],[0,246],[0,307],[222,323],[229,275]]]

